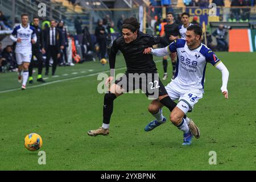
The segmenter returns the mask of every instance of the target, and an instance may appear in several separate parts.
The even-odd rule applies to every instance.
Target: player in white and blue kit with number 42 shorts
[[[202,29],[200,26],[192,25],[187,28],[186,38],[177,39],[170,46],[160,49],[147,48],[144,53],[152,53],[155,56],[167,55],[171,52],[177,52],[176,74],[167,86],[166,90],[172,100],[178,100],[179,103],[171,112],[171,122],[183,131],[183,145],[189,145],[192,142],[192,134],[200,137],[200,131],[197,127],[188,127],[189,122],[183,119],[183,115],[192,111],[193,106],[203,97],[204,76],[207,63],[212,64],[222,73],[221,92],[225,98],[228,98],[228,77],[229,72],[225,65],[217,56],[204,44],[201,44],[200,38]],[[150,113],[155,113],[162,106],[158,100],[151,102],[148,106]],[[156,117],[155,121],[161,121],[162,113]],[[150,122],[148,126],[151,126]],[[157,125],[159,126],[159,125]],[[154,129],[155,127],[153,127]],[[196,131],[197,130],[197,131]]]

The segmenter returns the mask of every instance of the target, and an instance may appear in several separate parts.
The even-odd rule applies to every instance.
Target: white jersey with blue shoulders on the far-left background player
[[[22,24],[20,24],[19,26],[16,26],[14,28],[11,35],[13,35],[16,39],[21,39],[20,43],[16,43],[16,53],[32,52],[31,39],[33,38],[36,40],[36,33],[34,27],[28,24],[28,26],[24,28],[22,27]]]

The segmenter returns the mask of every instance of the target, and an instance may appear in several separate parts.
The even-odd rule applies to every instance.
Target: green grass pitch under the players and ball
[[[229,100],[220,92],[221,72],[208,64],[204,98],[188,114],[201,130],[192,146],[181,146],[183,134],[170,122],[144,132],[153,119],[144,94],[115,100],[110,134],[89,137],[86,132],[102,124],[97,73],[108,71],[108,64],[58,67],[59,77],[49,76],[46,85],[36,83],[34,73],[35,83],[24,91],[16,73],[1,74],[0,170],[256,170],[256,53],[217,56],[229,69]],[[117,72],[124,72],[121,55],[116,62]],[[156,66],[162,77],[162,61]],[[163,113],[168,117],[168,109]],[[43,138],[46,165],[38,164],[38,151],[24,148],[28,133]],[[216,165],[208,162],[210,151]]]

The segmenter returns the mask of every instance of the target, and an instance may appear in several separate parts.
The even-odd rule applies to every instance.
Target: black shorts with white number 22
[[[125,73],[115,80],[115,84],[121,86],[123,93],[133,90],[142,90],[147,97],[158,98],[167,94],[166,88],[159,79],[158,73]],[[135,93],[139,93],[136,92]]]

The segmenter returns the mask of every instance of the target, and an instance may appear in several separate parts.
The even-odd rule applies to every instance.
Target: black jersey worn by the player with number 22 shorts
[[[152,47],[158,43],[164,43],[166,40],[159,36],[144,34],[139,32],[137,39],[131,43],[125,43],[123,36],[115,39],[109,53],[110,69],[115,68],[115,55],[118,50],[125,57],[128,73],[154,73],[156,72],[155,62],[151,54],[143,54],[145,48]]]

